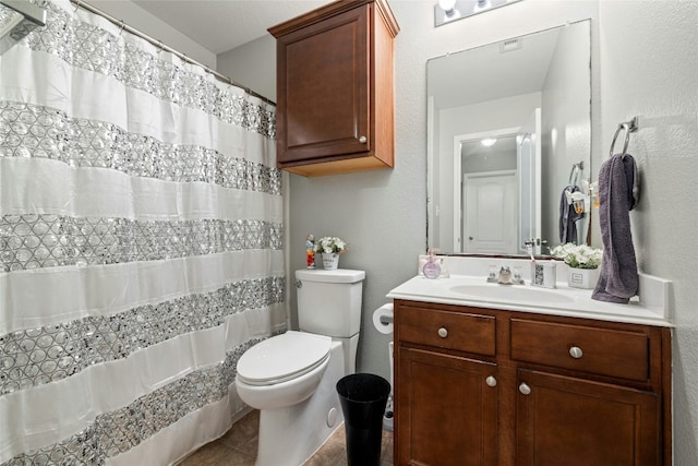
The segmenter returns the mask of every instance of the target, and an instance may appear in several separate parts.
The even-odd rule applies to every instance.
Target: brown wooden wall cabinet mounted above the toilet
[[[394,165],[394,50],[385,0],[345,0],[268,29],[277,53],[277,166],[302,176]]]

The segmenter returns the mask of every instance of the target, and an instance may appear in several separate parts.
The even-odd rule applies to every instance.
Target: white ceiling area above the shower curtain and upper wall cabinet
[[[267,28],[330,0],[132,0],[214,53],[268,34]]]

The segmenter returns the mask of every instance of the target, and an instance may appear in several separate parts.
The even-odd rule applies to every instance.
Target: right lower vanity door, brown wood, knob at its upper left
[[[518,465],[661,464],[655,394],[527,370],[518,383]]]

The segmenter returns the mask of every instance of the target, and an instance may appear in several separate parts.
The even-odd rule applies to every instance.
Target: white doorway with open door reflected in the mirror
[[[542,252],[540,140],[540,108],[520,128],[456,139],[456,251],[519,254],[532,242]]]

